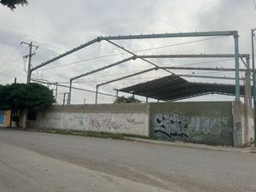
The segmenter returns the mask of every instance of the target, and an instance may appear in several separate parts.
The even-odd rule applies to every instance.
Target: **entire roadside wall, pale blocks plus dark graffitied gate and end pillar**
[[[249,146],[253,108],[241,102],[156,102],[54,106],[27,127],[125,133],[169,141]]]

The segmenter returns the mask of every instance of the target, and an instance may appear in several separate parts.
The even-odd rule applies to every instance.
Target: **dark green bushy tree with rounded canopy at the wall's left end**
[[[0,85],[0,110],[11,109],[17,127],[21,112],[41,111],[54,102],[52,91],[42,84]]]

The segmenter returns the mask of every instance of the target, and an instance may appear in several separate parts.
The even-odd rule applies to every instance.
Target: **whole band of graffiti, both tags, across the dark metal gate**
[[[157,113],[153,116],[154,135],[167,137],[193,137],[201,141],[203,136],[218,137],[230,134],[228,117],[185,117],[182,113]],[[156,135],[156,136],[158,136]]]

